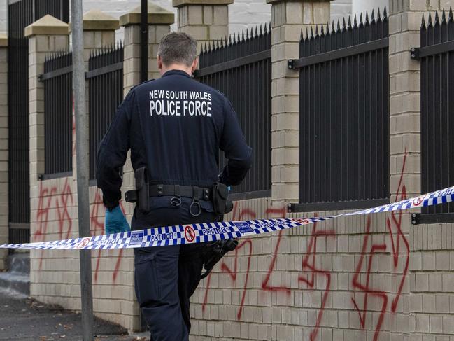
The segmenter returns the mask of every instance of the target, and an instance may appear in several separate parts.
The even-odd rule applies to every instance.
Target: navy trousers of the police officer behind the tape
[[[164,199],[164,198],[162,198]],[[192,200],[182,198],[180,207],[152,208],[148,214],[136,209],[132,229],[207,223],[216,221],[211,203],[194,217]],[[194,209],[194,211],[197,211]],[[187,341],[191,328],[190,297],[199,285],[204,244],[134,249],[134,283],[141,312],[150,328],[151,341]]]

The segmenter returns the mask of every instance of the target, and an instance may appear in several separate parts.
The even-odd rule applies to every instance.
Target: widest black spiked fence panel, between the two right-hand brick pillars
[[[386,11],[386,10],[385,10]],[[293,211],[389,202],[388,17],[374,11],[299,45],[299,204]]]

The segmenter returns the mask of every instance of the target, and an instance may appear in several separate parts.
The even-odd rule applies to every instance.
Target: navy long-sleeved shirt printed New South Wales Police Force
[[[121,198],[129,149],[134,171],[146,166],[152,184],[237,185],[252,163],[229,100],[178,70],[132,88],[115,113],[97,155],[97,185],[108,205]],[[219,149],[228,159],[220,179]]]

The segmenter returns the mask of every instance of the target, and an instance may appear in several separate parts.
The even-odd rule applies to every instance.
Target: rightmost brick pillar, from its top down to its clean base
[[[409,49],[420,43],[423,14],[449,8],[454,1],[390,1],[391,184],[406,158],[402,178],[409,195],[420,193],[420,63]],[[450,340],[454,335],[453,224],[409,225],[409,316],[411,340]]]

